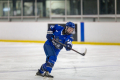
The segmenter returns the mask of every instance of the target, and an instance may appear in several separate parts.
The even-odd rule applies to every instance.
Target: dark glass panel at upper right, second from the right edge
[[[100,0],[100,14],[115,14],[115,1]]]

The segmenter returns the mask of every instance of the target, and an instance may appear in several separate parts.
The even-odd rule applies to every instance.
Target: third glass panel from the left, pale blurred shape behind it
[[[35,15],[35,0],[23,0],[23,15],[24,16]]]

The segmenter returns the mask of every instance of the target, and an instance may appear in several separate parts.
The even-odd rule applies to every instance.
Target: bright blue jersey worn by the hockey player
[[[61,42],[63,44],[65,44],[65,42],[69,42],[72,45],[72,41],[73,41],[72,34],[71,35],[63,34],[64,27],[56,24],[54,26],[51,25],[49,30],[53,31],[53,34],[55,36],[54,38],[57,41],[59,41],[59,42]],[[52,46],[57,53],[59,53],[59,51],[63,48],[62,45],[60,45],[59,43],[55,42],[54,40],[53,41],[47,40],[45,42],[45,44],[48,44],[48,45]]]

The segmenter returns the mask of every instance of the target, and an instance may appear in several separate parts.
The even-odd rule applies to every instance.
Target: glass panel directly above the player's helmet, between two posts
[[[81,0],[67,0],[67,15],[81,14]]]

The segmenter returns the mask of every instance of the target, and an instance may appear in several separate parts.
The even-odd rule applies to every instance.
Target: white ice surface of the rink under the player
[[[51,75],[35,76],[45,62],[43,43],[0,42],[0,80],[120,80],[120,46],[73,45],[86,56],[63,49]]]

